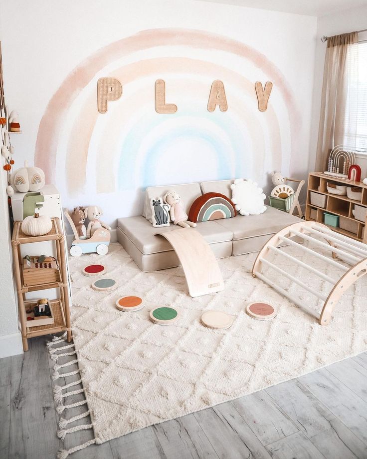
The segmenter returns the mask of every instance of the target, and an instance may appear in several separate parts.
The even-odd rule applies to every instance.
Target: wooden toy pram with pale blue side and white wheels
[[[67,221],[69,222],[71,229],[74,233],[74,237],[75,237],[70,247],[71,256],[79,257],[82,253],[93,253],[93,252],[97,252],[98,255],[106,255],[106,253],[108,252],[108,246],[110,244],[110,239],[111,239],[111,235],[107,228],[104,228],[102,226],[94,228],[93,231],[91,231],[90,238],[81,239],[79,237],[78,231],[75,228],[74,222],[69,212],[65,211],[64,215]],[[90,231],[89,225],[88,225],[88,228]]]

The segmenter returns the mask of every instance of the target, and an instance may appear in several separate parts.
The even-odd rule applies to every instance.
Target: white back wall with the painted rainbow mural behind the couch
[[[36,151],[65,206],[100,205],[113,225],[141,213],[147,185],[244,176],[268,193],[274,169],[306,178],[315,17],[190,0],[0,1],[16,165]],[[96,82],[109,75],[124,92],[100,115]],[[157,78],[174,115],[155,112]],[[214,79],[225,113],[206,110]],[[257,80],[274,83],[264,113]]]

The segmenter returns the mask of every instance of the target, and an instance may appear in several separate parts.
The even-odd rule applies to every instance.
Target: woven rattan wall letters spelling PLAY
[[[258,100],[258,108],[260,111],[265,111],[268,107],[268,100],[273,87],[273,83],[267,81],[265,87],[262,87],[260,81],[255,83],[255,91]],[[97,107],[100,113],[107,113],[108,102],[118,100],[122,94],[122,84],[117,78],[104,77],[97,81]],[[225,96],[223,81],[213,81],[207,110],[212,112],[219,106],[220,111],[227,111],[228,104]],[[166,83],[159,79],[155,82],[155,108],[157,113],[176,113],[177,105],[174,103],[166,103]]]

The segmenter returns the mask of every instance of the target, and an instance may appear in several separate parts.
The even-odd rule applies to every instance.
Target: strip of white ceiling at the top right
[[[213,3],[270,9],[308,16],[325,16],[359,6],[367,6],[367,0],[204,0]]]

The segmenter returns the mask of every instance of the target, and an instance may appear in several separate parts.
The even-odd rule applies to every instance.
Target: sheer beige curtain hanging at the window
[[[358,90],[358,32],[328,38],[321,96],[316,171],[327,170],[330,151],[337,145],[356,149],[356,111],[348,94]]]

